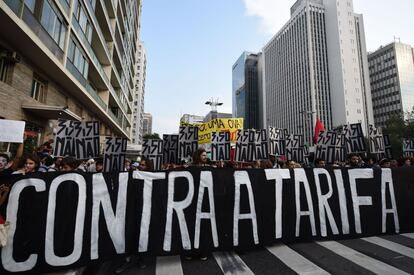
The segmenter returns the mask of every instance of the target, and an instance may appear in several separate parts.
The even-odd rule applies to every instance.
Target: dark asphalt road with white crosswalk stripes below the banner
[[[156,257],[142,268],[132,260],[115,273],[119,261],[88,274],[414,274],[414,233],[343,241],[277,244],[242,254],[215,252],[206,261]],[[85,273],[84,273],[85,274]]]

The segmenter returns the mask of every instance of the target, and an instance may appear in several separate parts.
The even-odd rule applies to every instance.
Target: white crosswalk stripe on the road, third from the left
[[[298,274],[329,274],[284,244],[267,247],[267,250]]]

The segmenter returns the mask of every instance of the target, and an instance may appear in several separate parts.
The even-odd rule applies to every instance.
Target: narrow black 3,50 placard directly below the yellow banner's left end
[[[180,160],[191,159],[198,148],[198,127],[180,127],[178,136],[178,156]]]

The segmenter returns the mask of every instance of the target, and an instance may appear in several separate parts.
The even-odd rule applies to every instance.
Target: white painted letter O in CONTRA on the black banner
[[[70,255],[59,257],[55,254],[54,229],[56,212],[56,192],[62,182],[75,182],[79,188],[78,206],[76,210],[76,224],[74,233],[74,246]],[[85,223],[86,182],[83,176],[75,173],[64,174],[55,178],[50,184],[49,203],[47,207],[45,260],[51,266],[67,266],[79,260],[82,255],[83,229]]]

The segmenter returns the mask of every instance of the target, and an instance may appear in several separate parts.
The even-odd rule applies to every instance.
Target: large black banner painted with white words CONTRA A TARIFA
[[[413,168],[39,173],[12,186],[0,274],[117,255],[414,231]],[[6,210],[6,211],[4,211]]]

